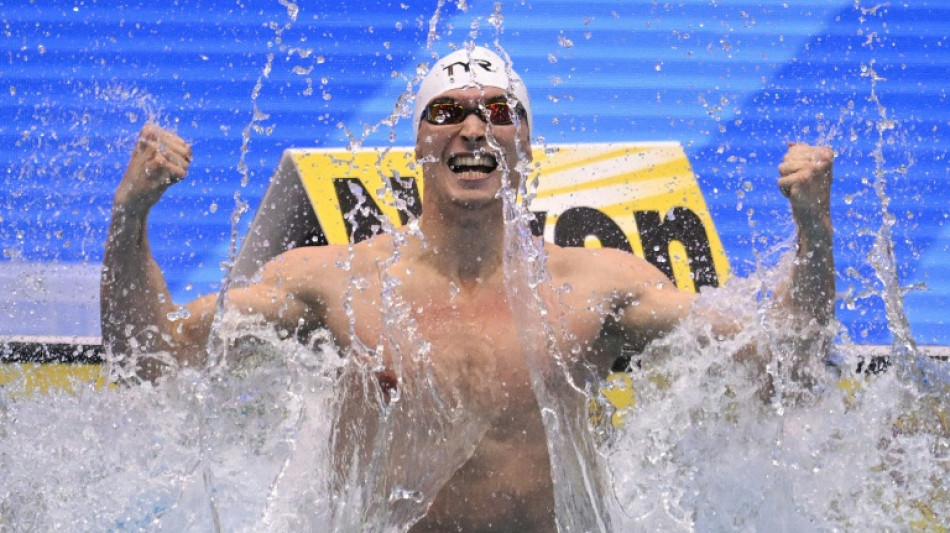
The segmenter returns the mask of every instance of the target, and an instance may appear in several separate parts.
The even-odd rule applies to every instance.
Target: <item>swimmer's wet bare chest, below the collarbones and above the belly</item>
[[[374,289],[353,291],[330,313],[341,347],[381,354],[384,374],[403,366],[400,357],[422,357],[446,383],[489,395],[502,411],[534,402],[527,361],[583,358],[602,326],[584,301],[555,291],[542,295],[539,313],[510,302],[504,287]]]

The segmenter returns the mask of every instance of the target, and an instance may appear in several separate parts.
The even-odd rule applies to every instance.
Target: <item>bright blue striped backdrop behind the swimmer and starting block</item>
[[[474,40],[527,82],[536,142],[682,143],[739,275],[793,234],[774,185],[787,142],[831,144],[849,336],[891,340],[868,259],[886,227],[916,339],[950,344],[950,7],[785,4],[0,2],[0,273],[101,262],[153,120],[196,155],[152,212],[153,250],[177,300],[213,291],[235,205],[240,235],[283,150],[411,145],[397,101],[417,66]],[[54,296],[37,313],[68,315]],[[0,323],[23,320],[7,300]]]

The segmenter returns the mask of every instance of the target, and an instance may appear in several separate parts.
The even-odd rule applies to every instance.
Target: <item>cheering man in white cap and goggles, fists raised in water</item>
[[[459,361],[468,369],[491,369],[456,372],[454,379],[479,379],[477,386],[489,389],[485,397],[492,422],[412,531],[482,531],[492,524],[511,531],[555,531],[544,427],[507,300],[503,201],[497,194],[504,169],[519,168],[519,154],[530,157],[528,92],[498,55],[474,48],[438,61],[415,102],[415,151],[425,187],[422,216],[418,234],[399,230],[405,232],[399,259],[386,274],[399,281],[399,297],[431,345],[436,372],[451,372]],[[789,327],[833,317],[832,159],[827,147],[795,143],[778,166],[778,187],[791,203],[798,230],[792,274],[785,286],[775,288]],[[149,209],[185,177],[191,160],[191,148],[174,133],[155,125],[142,129],[115,194],[106,244],[102,333],[112,353],[164,351],[184,366],[206,360],[216,295],[187,304],[187,316],[178,313],[184,318],[170,320],[180,308],[152,258],[146,231]],[[512,171],[509,179],[522,177]],[[268,262],[256,283],[229,290],[228,305],[301,339],[327,329],[343,353],[354,344],[351,335],[362,345],[385,346],[379,268],[393,256],[395,241],[382,234],[352,251],[347,246],[290,250]],[[576,357],[605,372],[616,355],[599,349],[610,344],[605,339],[642,349],[681,323],[696,300],[632,254],[551,243],[544,251],[550,283],[541,288],[541,297],[548,317],[564,332],[557,349],[582,354]],[[339,266],[344,263],[348,269]],[[351,291],[354,278],[366,280],[364,290]],[[565,286],[570,290],[554,289]],[[741,327],[723,317],[710,319],[721,331]],[[582,349],[571,351],[572,345]],[[145,379],[162,371],[158,363],[144,365],[138,372]],[[384,370],[381,379],[387,372],[392,369]],[[485,375],[493,378],[485,380]]]

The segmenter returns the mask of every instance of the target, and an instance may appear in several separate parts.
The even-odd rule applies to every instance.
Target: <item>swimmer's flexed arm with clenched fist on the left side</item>
[[[185,177],[191,158],[183,139],[146,125],[115,194],[100,286],[102,341],[113,361],[135,362],[135,368],[126,370],[138,379],[154,380],[164,368],[157,359],[142,355],[165,353],[179,365],[201,364],[206,357],[216,297],[176,305],[152,256],[147,232],[149,211],[168,187]],[[275,260],[265,267],[260,283],[229,291],[229,305],[289,331],[300,319],[316,322],[308,316],[314,313],[310,306],[287,297],[302,282],[294,275],[299,270],[295,264]]]

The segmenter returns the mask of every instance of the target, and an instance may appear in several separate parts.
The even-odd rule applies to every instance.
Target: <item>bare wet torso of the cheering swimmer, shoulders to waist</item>
[[[337,289],[336,297],[323,296],[327,326],[344,350],[355,334],[366,346],[392,352],[378,267],[390,256],[386,248],[378,242],[358,245],[349,271],[336,279],[322,278],[322,284],[351,287],[351,295]],[[608,295],[599,294],[598,287],[584,281],[590,276],[580,276],[570,266],[577,259],[561,249],[549,252],[552,279],[543,300],[546,318],[559,326],[556,345],[562,354],[572,344],[580,353],[588,352],[602,334],[603,309],[609,308],[597,305],[605,304]],[[399,280],[399,301],[411,310],[418,336],[431,345],[435,373],[463,390],[490,419],[472,456],[459,465],[412,531],[554,531],[547,441],[503,277],[498,273],[481,283],[453,287],[426,265],[400,263],[388,275]],[[571,289],[552,289],[564,286]],[[348,298],[353,330],[344,308]],[[392,372],[388,368],[380,378],[391,385]]]

